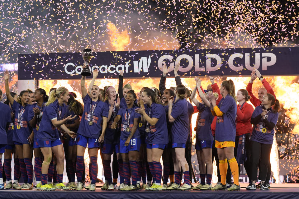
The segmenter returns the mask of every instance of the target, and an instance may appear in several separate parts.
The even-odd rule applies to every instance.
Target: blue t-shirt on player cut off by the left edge
[[[7,104],[0,103],[0,144],[7,145],[7,133],[6,133],[6,126],[7,123],[11,123],[12,118],[10,115],[10,108]]]

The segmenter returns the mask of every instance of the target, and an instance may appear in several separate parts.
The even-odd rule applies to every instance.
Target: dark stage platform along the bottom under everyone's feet
[[[299,199],[299,184],[271,184],[269,191],[249,191],[245,189],[247,184],[240,184],[241,190],[236,192],[229,191],[102,191],[100,186],[102,183],[97,183],[96,191],[18,191],[18,190],[0,190],[0,198],[80,198],[80,199]]]

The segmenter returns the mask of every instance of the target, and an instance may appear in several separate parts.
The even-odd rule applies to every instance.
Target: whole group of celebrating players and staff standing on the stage
[[[269,190],[270,152],[280,107],[271,86],[254,69],[246,90],[235,92],[232,80],[223,81],[219,87],[213,77],[204,90],[202,79],[197,77],[191,91],[181,83],[178,68],[179,64],[174,68],[176,87],[165,87],[168,68],[163,64],[159,89],[143,87],[140,92],[132,90],[130,84],[123,86],[121,71],[118,93],[113,86],[101,89],[94,85],[96,69],[88,89],[85,76],[81,78],[83,105],[65,87],[52,88],[49,96],[41,88],[34,93],[23,90],[18,96],[10,92],[6,71],[7,101],[0,103],[0,160],[4,153],[3,169],[0,161],[0,189],[31,190],[34,172],[36,190],[85,188],[94,191],[100,150],[105,177],[102,190],[238,191],[241,164],[249,177],[246,189]],[[256,78],[264,86],[258,98],[251,92]],[[0,94],[2,100],[1,90]],[[191,118],[194,113],[198,113],[194,131],[200,183],[193,187]],[[88,186],[83,159],[86,147]],[[212,187],[214,157],[218,183]],[[64,166],[68,184],[63,183]],[[18,183],[20,175],[23,185]],[[261,182],[256,185],[258,180]]]

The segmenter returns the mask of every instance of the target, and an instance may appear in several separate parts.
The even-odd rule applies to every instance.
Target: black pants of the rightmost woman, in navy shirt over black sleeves
[[[270,161],[272,144],[262,144],[256,141],[251,141],[250,150],[250,176],[251,180],[257,180],[259,160],[259,177],[261,181],[266,180],[268,173],[268,164]]]

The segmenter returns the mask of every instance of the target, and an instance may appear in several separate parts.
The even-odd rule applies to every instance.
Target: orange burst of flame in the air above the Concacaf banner
[[[123,51],[125,47],[130,44],[130,36],[128,31],[119,32],[116,26],[109,22],[107,24],[108,34],[110,35],[110,43],[116,51]]]

